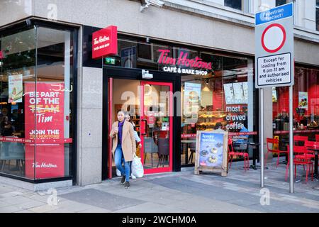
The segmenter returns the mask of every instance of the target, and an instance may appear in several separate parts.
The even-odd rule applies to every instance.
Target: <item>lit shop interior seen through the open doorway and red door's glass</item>
[[[144,122],[141,131],[141,87],[144,91]],[[143,140],[145,169],[169,167],[169,91],[167,86],[144,84],[138,80],[113,79],[113,116],[112,122],[117,121],[118,111],[130,115],[131,123]],[[141,133],[142,132],[142,133]],[[141,157],[137,145],[136,154]],[[115,169],[112,159],[113,170]],[[114,174],[114,171],[113,171]]]

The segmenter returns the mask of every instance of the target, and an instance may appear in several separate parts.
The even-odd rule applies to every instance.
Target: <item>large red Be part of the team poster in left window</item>
[[[35,92],[36,91],[36,92]],[[65,176],[64,84],[25,83],[26,177]]]

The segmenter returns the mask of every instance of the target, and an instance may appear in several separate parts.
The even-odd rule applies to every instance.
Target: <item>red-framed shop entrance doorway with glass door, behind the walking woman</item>
[[[172,171],[172,83],[111,78],[108,93],[108,133],[118,111],[130,114],[141,140],[136,154],[142,159],[145,174]],[[111,140],[108,150],[111,178],[116,176]]]

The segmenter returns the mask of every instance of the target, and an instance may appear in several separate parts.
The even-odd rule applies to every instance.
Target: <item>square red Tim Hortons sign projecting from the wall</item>
[[[92,34],[92,58],[118,54],[118,28],[108,26]]]

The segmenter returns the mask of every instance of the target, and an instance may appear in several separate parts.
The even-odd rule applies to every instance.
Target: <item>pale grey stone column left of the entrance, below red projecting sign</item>
[[[101,182],[103,70],[82,67],[78,79],[77,184]]]

